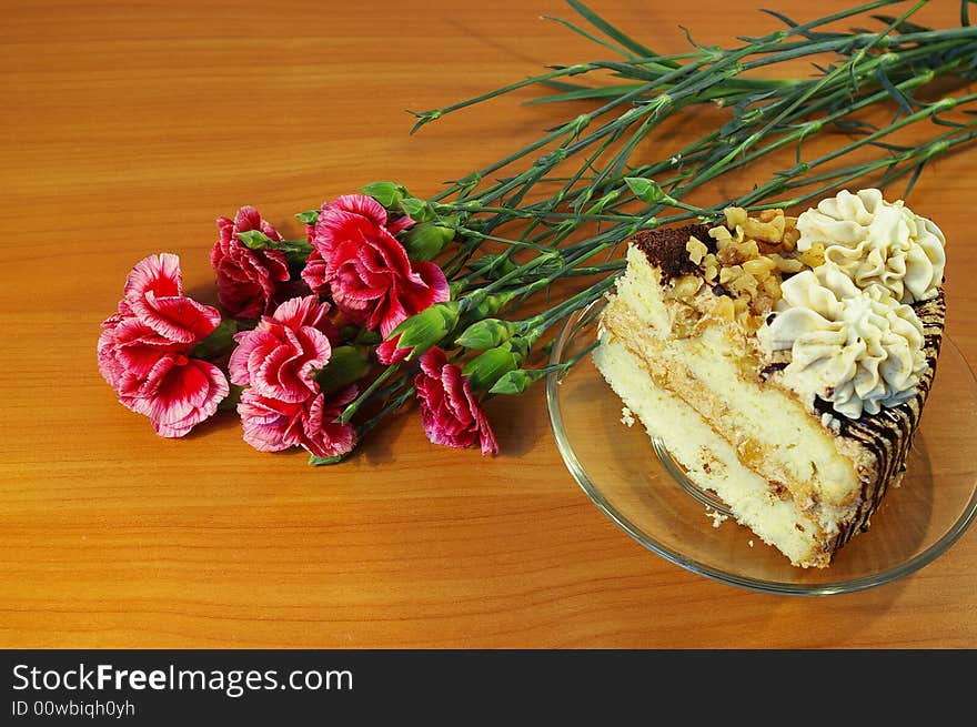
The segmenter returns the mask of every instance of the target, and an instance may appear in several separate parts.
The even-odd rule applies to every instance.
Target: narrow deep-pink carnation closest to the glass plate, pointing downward
[[[450,447],[480,444],[483,455],[498,452],[498,443],[467,378],[459,366],[447,363],[441,349],[435,346],[421,356],[421,371],[414,386],[424,432],[434,444]]]

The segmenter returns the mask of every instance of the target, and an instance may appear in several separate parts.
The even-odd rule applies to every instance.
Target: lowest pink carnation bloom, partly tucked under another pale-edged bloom
[[[352,425],[335,424],[333,420],[356,393],[355,386],[348,386],[328,402],[324,394],[315,394],[290,403],[245,388],[238,404],[244,441],[260,452],[300,446],[319,457],[345,454],[356,443],[355,431]]]

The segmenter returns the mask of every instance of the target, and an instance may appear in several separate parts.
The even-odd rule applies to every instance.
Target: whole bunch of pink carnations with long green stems
[[[883,0],[803,23],[772,13],[784,29],[726,49],[689,36],[691,50],[673,55],[568,4],[601,36],[560,22],[612,60],[416,113],[415,130],[532,84],[550,91],[537,102],[592,101],[591,111],[429,199],[376,182],[300,212],[303,239],[284,239],[252,206],[219,218],[210,263],[220,309],[184,293],[175,255],[138,262],[98,341],[120,403],[165,437],[236,412],[256,450],[302,447],[328,464],[415,401],[433,443],[494,454],[485,398],[578,361],[547,363],[547,332],[613,285],[636,232],[711,221],[729,205],[795,206],[869,176],[879,186],[908,176],[908,193],[928,162],[977,137],[977,94],[931,98],[977,73],[966,1],[958,28],[911,22],[917,6],[873,14],[873,30],[835,29],[893,4]],[[814,75],[776,74],[804,58]],[[697,118],[703,104],[726,110],[724,122],[661,159],[639,158],[666,120]],[[866,120],[879,108],[893,110],[887,125]],[[917,139],[926,129],[925,140],[903,143],[908,128]],[[806,142],[826,131],[845,143],[809,154]],[[737,198],[684,201],[785,152],[783,169]]]

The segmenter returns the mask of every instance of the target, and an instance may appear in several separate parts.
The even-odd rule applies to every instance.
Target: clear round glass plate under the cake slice
[[[551,363],[568,361],[596,337],[600,301],[573,314]],[[828,568],[798,568],[723,512],[682,475],[639,421],[622,423],[623,403],[587,354],[546,382],[550,421],[567,468],[594,504],[638,543],[708,578],[775,594],[828,595],[890,583],[931,563],[977,514],[977,384],[944,336],[937,375],[903,484],[889,488],[872,527],[838,551]]]

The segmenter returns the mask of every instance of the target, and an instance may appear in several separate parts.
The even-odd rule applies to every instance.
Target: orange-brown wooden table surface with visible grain
[[[675,52],[679,24],[722,44],[774,29],[763,4],[593,0]],[[927,18],[958,22],[958,3],[936,4]],[[162,440],[115,402],[94,344],[135,261],[179,254],[213,302],[216,216],[253,204],[296,232],[295,212],[365,183],[433,194],[535,139],[567,111],[518,103],[533,92],[413,137],[405,110],[602,58],[540,18],[573,17],[562,2],[3,7],[0,646],[977,646],[973,528],[850,595],[715,583],[594,507],[542,386],[491,403],[497,457],[430,444],[412,410],[331,468],[255,452],[232,416]],[[971,362],[975,161],[938,160],[911,198],[949,240],[948,331]]]

